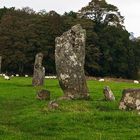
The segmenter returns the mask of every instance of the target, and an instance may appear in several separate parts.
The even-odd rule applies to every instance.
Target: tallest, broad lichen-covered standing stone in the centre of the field
[[[84,74],[86,31],[80,25],[56,38],[55,63],[59,84],[65,97],[87,98]]]

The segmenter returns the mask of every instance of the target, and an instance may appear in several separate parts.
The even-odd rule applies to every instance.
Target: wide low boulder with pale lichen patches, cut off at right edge
[[[125,89],[122,94],[120,109],[140,110],[140,89]]]

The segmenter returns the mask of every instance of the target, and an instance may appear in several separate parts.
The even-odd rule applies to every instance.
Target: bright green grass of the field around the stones
[[[62,96],[57,80],[46,80],[51,99]],[[109,85],[116,101],[103,101]],[[118,103],[124,88],[133,83],[88,81],[91,100],[59,101],[49,111],[47,101],[36,100],[31,78],[0,78],[0,140],[139,140],[140,115],[121,111]]]

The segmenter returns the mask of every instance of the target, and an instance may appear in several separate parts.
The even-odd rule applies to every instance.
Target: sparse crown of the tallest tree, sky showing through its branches
[[[124,21],[118,8],[108,4],[105,0],[92,0],[79,11],[78,15],[81,18],[90,18],[97,24],[120,26]]]

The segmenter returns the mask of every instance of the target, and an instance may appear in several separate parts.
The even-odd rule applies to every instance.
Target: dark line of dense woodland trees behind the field
[[[35,12],[29,7],[0,9],[2,71],[32,74],[35,55],[44,54],[46,74],[55,74],[55,38],[75,24],[87,32],[85,72],[90,76],[138,79],[140,40],[130,39],[118,8],[92,0],[77,13]]]

